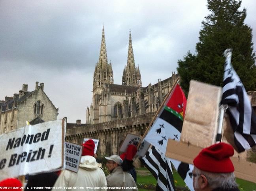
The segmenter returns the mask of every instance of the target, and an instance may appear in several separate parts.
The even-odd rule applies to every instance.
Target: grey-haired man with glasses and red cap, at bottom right
[[[233,154],[233,147],[223,142],[204,148],[194,159],[194,170],[189,173],[195,191],[239,191],[230,160]]]

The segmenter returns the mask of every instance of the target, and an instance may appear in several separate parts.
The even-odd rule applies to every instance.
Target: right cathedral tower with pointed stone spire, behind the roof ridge
[[[127,65],[125,66],[123,75],[122,75],[122,85],[141,87],[141,75],[139,72],[139,66],[135,67],[135,62],[134,62],[131,32],[129,34]]]

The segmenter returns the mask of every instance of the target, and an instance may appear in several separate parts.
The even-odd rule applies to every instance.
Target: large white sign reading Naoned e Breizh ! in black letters
[[[65,128],[56,120],[0,135],[0,180],[62,168]]]

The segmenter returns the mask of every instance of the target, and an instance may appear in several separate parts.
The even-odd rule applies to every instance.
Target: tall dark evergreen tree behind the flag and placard
[[[246,10],[239,10],[241,0],[207,0],[211,11],[200,31],[196,54],[190,52],[178,61],[181,86],[188,92],[191,79],[222,86],[225,58],[223,52],[232,48],[232,65],[245,89],[256,90],[255,52],[252,28],[244,23]]]

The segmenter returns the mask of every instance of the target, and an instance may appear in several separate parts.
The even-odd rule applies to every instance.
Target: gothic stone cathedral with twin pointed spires
[[[128,58],[124,66],[122,84],[113,84],[113,69],[107,60],[104,26],[100,57],[93,75],[92,104],[87,107],[87,124],[109,122],[155,112],[168,94],[177,75],[147,87],[141,87],[139,66],[135,66],[132,36],[129,34]]]

